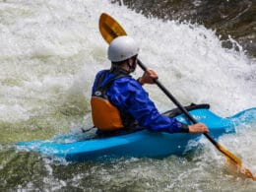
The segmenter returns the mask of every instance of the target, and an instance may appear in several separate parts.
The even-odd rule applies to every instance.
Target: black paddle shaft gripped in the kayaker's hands
[[[147,71],[147,67],[139,60],[137,59],[138,65],[143,69],[143,71]],[[180,102],[172,96],[160,83],[158,79],[155,79],[154,82],[158,85],[160,90],[171,99],[171,101],[187,116],[187,118],[192,121],[192,123],[196,124],[198,123],[197,120],[189,114],[189,112],[186,110],[186,108],[180,104]],[[209,133],[204,133],[204,135],[215,145],[218,146],[218,143],[209,135]]]

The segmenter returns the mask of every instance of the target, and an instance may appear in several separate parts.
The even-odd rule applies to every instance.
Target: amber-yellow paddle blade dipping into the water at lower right
[[[224,147],[221,146],[220,144],[218,144],[217,147],[224,154],[224,158],[225,158],[226,162],[228,163],[229,167],[236,169],[236,171],[238,173],[241,173],[241,174],[251,178],[252,180],[256,181],[256,177],[253,176],[253,174],[251,173],[251,171],[248,168],[246,168],[242,165],[241,160],[239,160],[232,153],[225,150]]]

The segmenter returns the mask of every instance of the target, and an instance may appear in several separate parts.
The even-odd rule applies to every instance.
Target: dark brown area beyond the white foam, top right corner
[[[224,47],[232,46],[228,36],[256,57],[255,0],[113,0],[146,17],[189,21],[204,25],[221,35]]]

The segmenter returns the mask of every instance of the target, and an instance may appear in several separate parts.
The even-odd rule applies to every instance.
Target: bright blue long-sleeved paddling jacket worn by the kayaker
[[[96,74],[93,92],[96,90],[98,77],[105,71],[107,70],[99,71]],[[113,77],[114,74],[108,72],[102,81],[102,85]],[[125,111],[130,114],[142,127],[153,131],[168,133],[184,132],[182,131],[182,126],[184,125],[177,119],[160,114],[142,85],[131,76],[121,77],[114,80],[112,85],[106,91],[106,95],[112,104],[114,104],[120,111]]]

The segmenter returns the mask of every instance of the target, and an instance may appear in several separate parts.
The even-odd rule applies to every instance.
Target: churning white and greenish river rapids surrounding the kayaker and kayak
[[[96,72],[110,65],[107,43],[98,32],[103,12],[139,41],[140,59],[184,105],[207,102],[222,116],[256,106],[254,54],[248,56],[232,36],[224,47],[226,40],[211,27],[147,18],[138,9],[101,0],[0,0],[1,191],[256,190],[251,180],[225,168],[223,156],[206,139],[192,144],[203,148],[184,157],[109,163],[59,163],[13,148],[18,141],[92,126],[91,87]],[[141,74],[138,69],[134,77]],[[158,87],[145,88],[160,111],[174,107]],[[256,122],[239,126],[236,134],[220,139],[254,174],[255,128]]]

